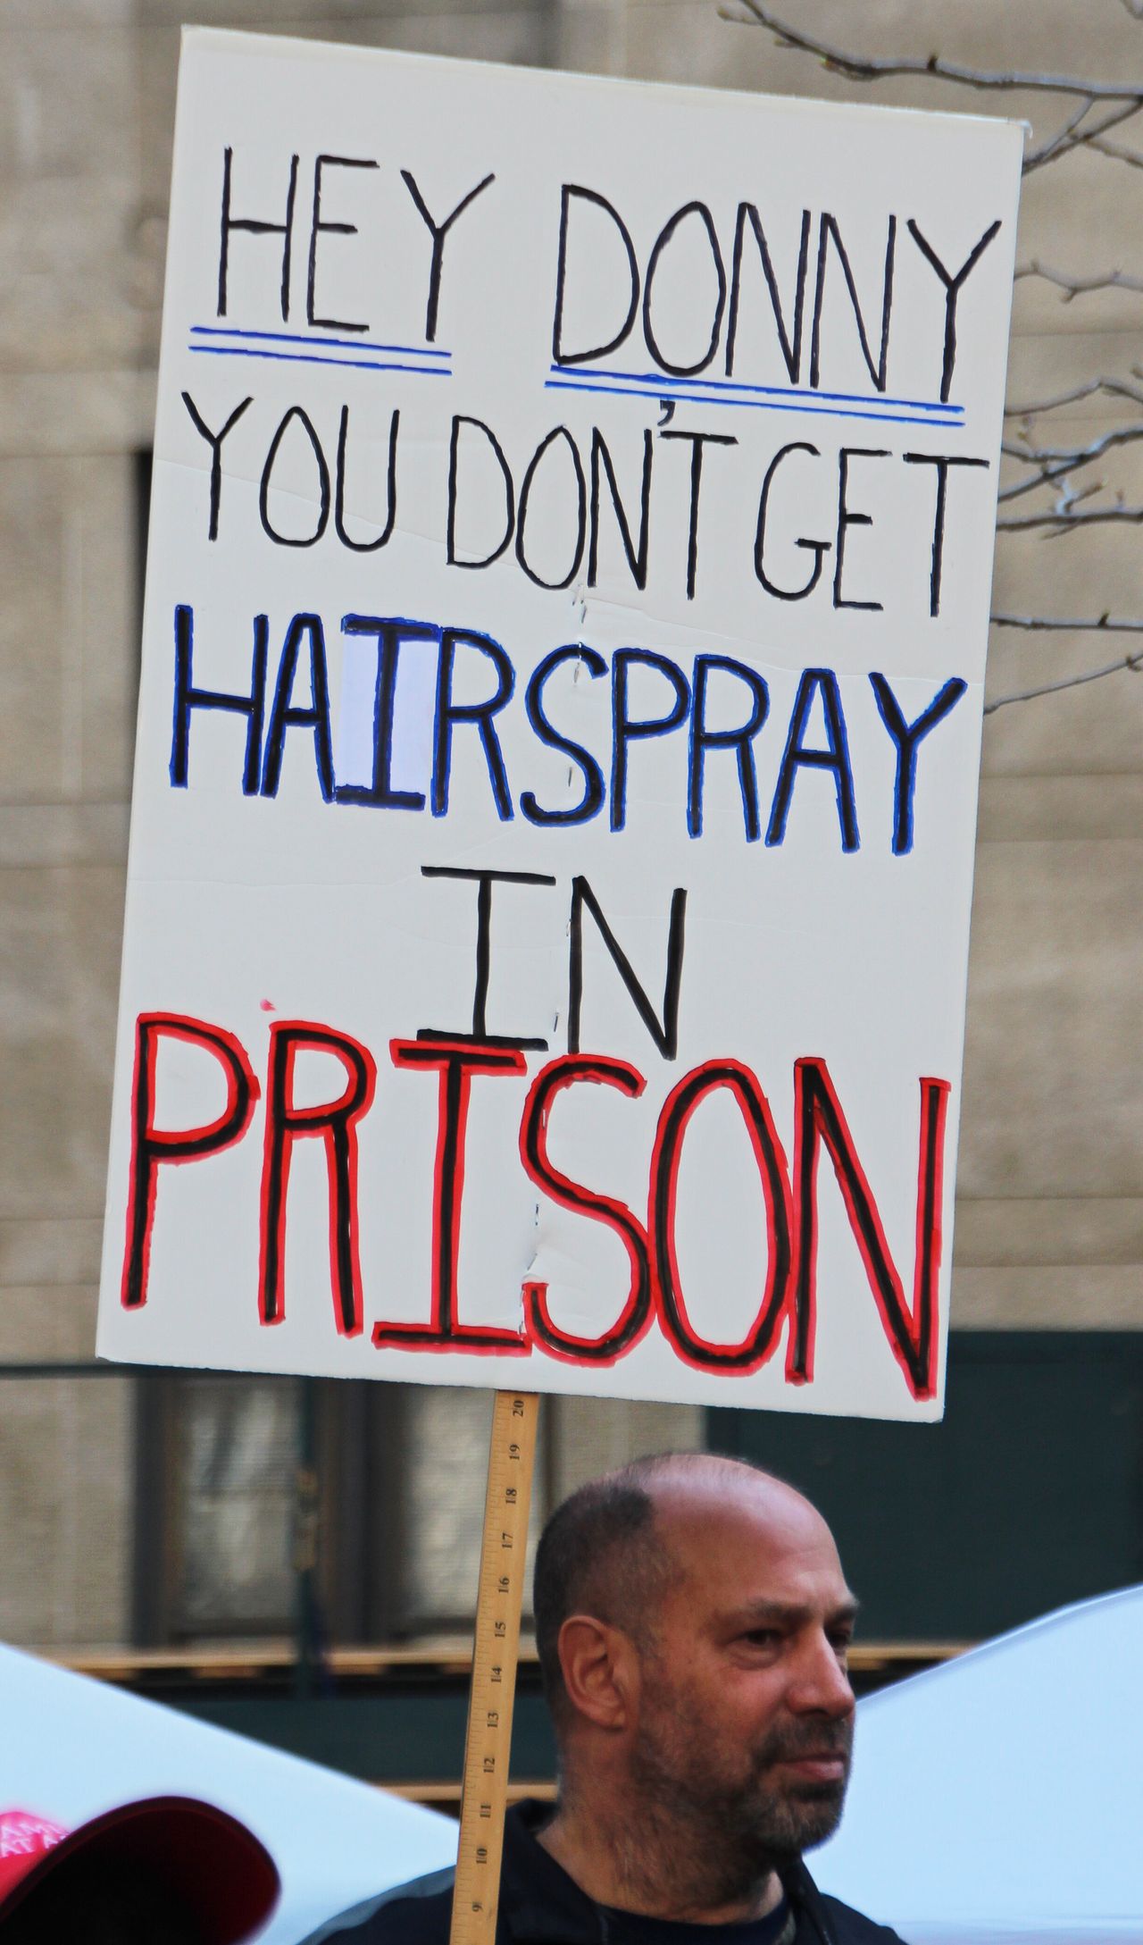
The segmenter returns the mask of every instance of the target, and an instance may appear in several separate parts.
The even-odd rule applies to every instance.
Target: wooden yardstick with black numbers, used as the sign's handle
[[[496,1393],[449,1945],[496,1939],[538,1410],[537,1393]]]

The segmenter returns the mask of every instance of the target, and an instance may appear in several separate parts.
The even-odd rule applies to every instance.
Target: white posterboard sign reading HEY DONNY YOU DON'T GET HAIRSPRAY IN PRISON
[[[1019,169],[187,33],[101,1356],[941,1414]]]

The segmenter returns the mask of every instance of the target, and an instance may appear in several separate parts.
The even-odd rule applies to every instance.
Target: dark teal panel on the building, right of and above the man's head
[[[1143,1579],[1143,1332],[952,1330],[945,1420],[713,1410],[830,1521],[865,1640],[984,1640]]]

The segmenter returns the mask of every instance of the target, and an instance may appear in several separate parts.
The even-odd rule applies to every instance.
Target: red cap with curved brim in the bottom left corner
[[[0,1811],[0,1941],[6,1920],[72,1859],[130,1877],[146,1869],[173,1902],[194,1914],[206,1945],[239,1945],[278,1902],[278,1869],[268,1850],[235,1817],[194,1797],[122,1803],[64,1830],[31,1811]]]

